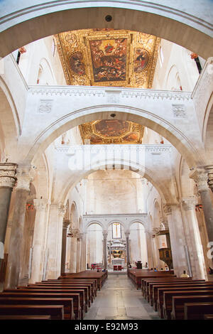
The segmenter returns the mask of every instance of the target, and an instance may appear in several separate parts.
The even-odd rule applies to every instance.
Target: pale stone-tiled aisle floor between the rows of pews
[[[158,320],[158,313],[124,274],[108,274],[85,320]]]

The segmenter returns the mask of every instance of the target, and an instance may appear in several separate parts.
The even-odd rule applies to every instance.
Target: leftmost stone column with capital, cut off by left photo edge
[[[0,268],[4,259],[6,225],[11,203],[11,193],[16,183],[16,163],[0,163]]]

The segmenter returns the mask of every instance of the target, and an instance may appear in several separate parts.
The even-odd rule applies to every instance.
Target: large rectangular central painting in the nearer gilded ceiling
[[[94,82],[126,80],[127,39],[89,41]]]

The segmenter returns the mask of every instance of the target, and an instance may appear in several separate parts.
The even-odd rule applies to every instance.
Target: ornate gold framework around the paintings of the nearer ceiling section
[[[67,31],[55,35],[54,38],[58,47],[67,85],[152,88],[160,38],[136,31],[94,31],[94,29]],[[126,80],[94,82],[89,41],[113,40],[115,38],[127,38]],[[149,55],[148,64],[141,72],[134,72],[136,49],[144,49]],[[75,52],[82,53],[82,59],[85,65],[84,75],[78,75],[70,68],[69,59]]]

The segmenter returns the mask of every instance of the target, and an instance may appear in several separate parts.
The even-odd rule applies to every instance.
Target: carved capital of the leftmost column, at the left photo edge
[[[0,187],[14,187],[17,180],[16,168],[16,163],[0,163]]]

